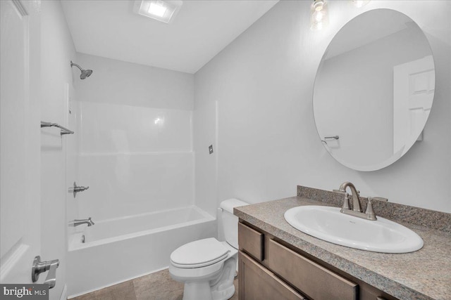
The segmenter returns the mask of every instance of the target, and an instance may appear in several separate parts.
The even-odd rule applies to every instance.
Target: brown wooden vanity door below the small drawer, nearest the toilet
[[[250,256],[239,252],[240,300],[307,300]]]

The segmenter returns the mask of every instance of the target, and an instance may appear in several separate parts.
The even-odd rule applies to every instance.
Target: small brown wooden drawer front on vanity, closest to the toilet
[[[259,233],[243,223],[238,223],[238,247],[240,250],[254,256],[258,261],[263,261],[263,243],[263,233]]]

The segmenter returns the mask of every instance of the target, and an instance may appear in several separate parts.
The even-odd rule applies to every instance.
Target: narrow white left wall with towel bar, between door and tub
[[[67,98],[73,93],[70,60],[75,56],[72,37],[59,1],[42,1],[41,120],[66,125]],[[73,94],[71,95],[73,96]],[[67,126],[67,125],[66,125]],[[58,129],[41,133],[41,200],[43,260],[59,259],[56,286],[50,299],[60,299],[66,283],[66,143],[73,135]],[[46,275],[47,276],[47,275]]]

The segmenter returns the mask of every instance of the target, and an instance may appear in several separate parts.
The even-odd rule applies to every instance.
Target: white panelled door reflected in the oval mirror
[[[419,137],[431,112],[434,87],[432,56],[393,68],[393,153],[407,152]]]

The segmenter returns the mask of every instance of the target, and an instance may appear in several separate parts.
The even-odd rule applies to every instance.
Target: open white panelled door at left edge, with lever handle
[[[0,282],[27,284],[41,249],[40,4],[0,5]]]

